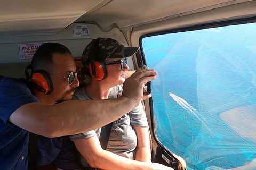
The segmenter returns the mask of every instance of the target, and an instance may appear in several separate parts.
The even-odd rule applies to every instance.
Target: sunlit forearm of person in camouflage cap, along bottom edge
[[[91,167],[106,170],[173,170],[172,168],[168,168],[161,164],[139,162],[103,150],[97,136],[75,140],[74,142],[78,151],[83,155]]]

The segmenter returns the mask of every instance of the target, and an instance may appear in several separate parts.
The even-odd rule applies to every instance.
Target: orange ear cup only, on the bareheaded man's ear
[[[41,95],[48,95],[52,92],[52,81],[49,77],[49,74],[44,70],[37,70],[33,74],[31,74],[31,82],[36,84],[37,86],[45,89],[45,92],[37,91]]]

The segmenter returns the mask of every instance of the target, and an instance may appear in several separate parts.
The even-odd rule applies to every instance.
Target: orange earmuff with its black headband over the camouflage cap
[[[105,67],[105,64],[101,61],[95,61],[95,56],[97,55],[97,48],[100,41],[100,37],[95,40],[95,43],[93,44],[93,49],[91,50],[91,53],[88,54],[91,58],[91,61],[88,65],[89,72],[93,79],[95,80],[103,80],[107,77],[107,70]],[[93,53],[93,54],[92,54]]]

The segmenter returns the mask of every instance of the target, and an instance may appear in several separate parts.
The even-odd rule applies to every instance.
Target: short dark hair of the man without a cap
[[[40,45],[36,53],[34,54],[32,61],[31,61],[31,71],[36,71],[36,70],[45,70],[46,72],[51,72],[53,70],[53,60],[52,56],[55,53],[60,53],[63,55],[70,54],[70,50],[59,43],[43,43]]]

